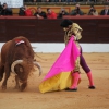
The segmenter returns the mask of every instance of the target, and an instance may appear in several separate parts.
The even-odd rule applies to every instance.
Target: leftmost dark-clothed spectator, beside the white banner
[[[13,15],[11,8],[8,8],[7,3],[2,5],[1,15]]]

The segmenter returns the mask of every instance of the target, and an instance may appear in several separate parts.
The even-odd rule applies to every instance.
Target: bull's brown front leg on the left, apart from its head
[[[11,68],[8,63],[5,63],[5,66],[4,66],[4,72],[5,72],[5,76],[4,76],[4,81],[2,83],[2,89],[5,90],[7,89],[7,81],[10,76],[10,71],[11,71]]]

